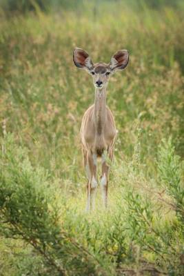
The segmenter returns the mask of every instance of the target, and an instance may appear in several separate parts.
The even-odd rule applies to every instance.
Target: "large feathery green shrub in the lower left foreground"
[[[48,175],[33,168],[26,150],[14,144],[12,136],[3,141],[0,173],[1,234],[23,239],[41,255],[52,275],[99,275],[99,263],[83,245],[66,233],[59,219]],[[88,264],[86,266],[86,264]],[[104,275],[104,274],[103,274]]]

